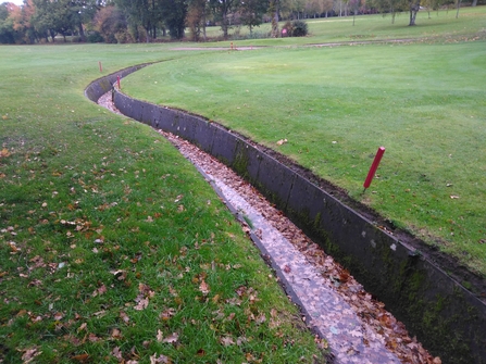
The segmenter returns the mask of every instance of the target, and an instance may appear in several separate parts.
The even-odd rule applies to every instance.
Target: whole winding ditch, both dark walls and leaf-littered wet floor
[[[183,148],[184,139],[228,166],[360,281],[346,269],[329,267],[332,259],[309,249],[314,244],[306,238],[297,239],[304,242],[302,249],[285,236],[275,238],[278,234],[265,225],[265,214],[241,201],[224,178],[199,166],[235,215],[244,224],[251,221],[253,241],[301,306],[309,327],[328,340],[337,363],[439,363],[422,342],[441,363],[486,364],[484,280],[285,156],[200,116],[135,100],[113,88],[117,77],[146,65],[92,81],[86,97],[98,102],[108,93],[122,114],[161,130],[179,150],[189,148]],[[317,267],[310,264],[319,260]],[[348,296],[342,299],[339,290]]]

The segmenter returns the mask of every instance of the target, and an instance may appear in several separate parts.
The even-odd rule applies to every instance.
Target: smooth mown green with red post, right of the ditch
[[[277,149],[485,275],[485,46],[224,51],[145,68],[125,91]],[[363,193],[379,146],[385,158]]]

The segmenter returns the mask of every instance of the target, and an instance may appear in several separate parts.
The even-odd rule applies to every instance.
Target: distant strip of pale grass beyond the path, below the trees
[[[428,17],[431,15],[431,17]],[[408,26],[409,14],[399,13],[391,24],[390,15],[359,15],[352,25],[352,16],[310,18],[308,37],[291,37],[277,39],[239,39],[217,42],[219,46],[229,47],[230,41],[235,47],[244,46],[282,46],[292,47],[295,45],[347,42],[347,41],[383,41],[391,39],[415,39],[424,41],[450,41],[463,39],[464,37],[484,37],[486,33],[486,9],[485,7],[462,8],[459,17],[456,18],[454,10],[427,11],[418,13],[416,26]],[[284,23],[281,23],[281,28]],[[230,34],[236,33],[236,28]],[[256,33],[270,32],[270,24],[262,24],[254,28]],[[240,37],[249,36],[248,28],[239,29]],[[219,27],[209,27],[208,37],[221,37]],[[214,43],[195,43],[194,47],[210,47]]]

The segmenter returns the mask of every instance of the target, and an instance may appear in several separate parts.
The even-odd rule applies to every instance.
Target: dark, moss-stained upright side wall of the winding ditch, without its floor
[[[94,81],[86,96],[98,100],[111,90],[117,75],[142,66]],[[425,247],[391,235],[319,188],[295,166],[220,125],[134,100],[117,90],[113,97],[123,114],[190,141],[257,187],[349,268],[444,363],[486,363],[485,303],[434,263]]]

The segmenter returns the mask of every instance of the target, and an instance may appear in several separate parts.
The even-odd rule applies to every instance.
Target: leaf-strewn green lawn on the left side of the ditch
[[[192,165],[83,95],[98,61],[108,73],[182,55],[160,45],[0,54],[0,361],[324,361]]]

